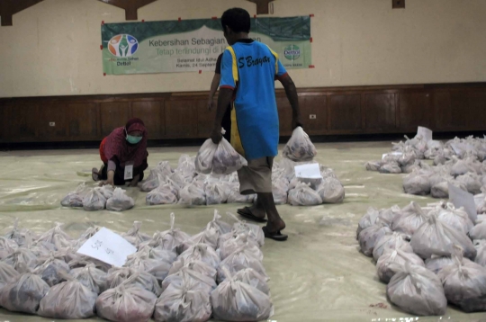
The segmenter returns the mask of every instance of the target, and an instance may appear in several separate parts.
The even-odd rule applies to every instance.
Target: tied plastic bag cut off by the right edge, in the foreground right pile
[[[444,291],[449,303],[464,312],[486,310],[486,269],[467,258],[459,249],[452,255],[454,264],[441,270],[437,275],[444,283]]]

